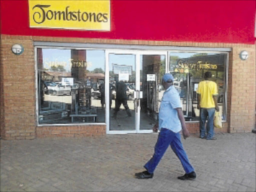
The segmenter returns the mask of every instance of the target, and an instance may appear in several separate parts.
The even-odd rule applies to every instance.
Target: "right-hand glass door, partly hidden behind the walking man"
[[[152,51],[140,54],[140,112],[139,131],[152,132],[158,120],[158,111],[164,89],[162,75],[167,71],[167,53]]]

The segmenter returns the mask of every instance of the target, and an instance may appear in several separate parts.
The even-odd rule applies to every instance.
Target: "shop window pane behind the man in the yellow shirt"
[[[196,89],[198,83],[204,80],[206,71],[212,73],[217,83],[217,103],[222,113],[222,120],[226,120],[226,63],[227,53],[205,52],[168,52],[169,71],[174,74],[174,86],[179,91],[182,110],[187,121],[199,120],[197,109]]]

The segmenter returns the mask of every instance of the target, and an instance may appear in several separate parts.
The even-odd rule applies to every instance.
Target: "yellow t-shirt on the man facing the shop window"
[[[203,80],[199,82],[196,93],[200,94],[200,107],[214,108],[215,103],[212,95],[217,95],[217,84],[214,81]]]

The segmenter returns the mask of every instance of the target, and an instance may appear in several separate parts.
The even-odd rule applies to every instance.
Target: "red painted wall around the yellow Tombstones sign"
[[[0,0],[0,32],[107,39],[255,43],[256,0],[111,0],[111,30],[29,28],[27,0]]]

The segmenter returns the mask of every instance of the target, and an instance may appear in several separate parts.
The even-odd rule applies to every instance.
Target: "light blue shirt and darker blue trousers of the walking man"
[[[153,173],[164,152],[170,145],[179,158],[186,173],[194,171],[186,152],[182,146],[180,133],[181,123],[176,108],[181,108],[178,91],[174,86],[169,86],[163,93],[158,114],[159,134],[154,146],[154,154],[144,165],[144,168]]]

